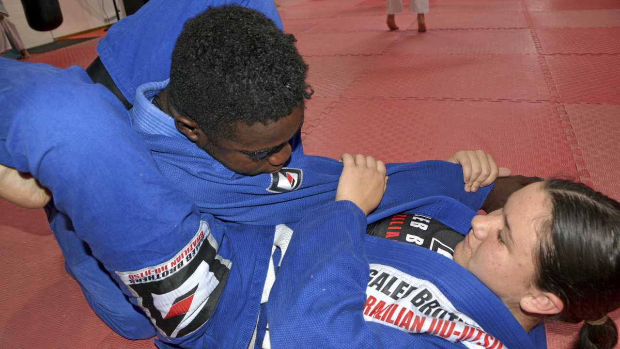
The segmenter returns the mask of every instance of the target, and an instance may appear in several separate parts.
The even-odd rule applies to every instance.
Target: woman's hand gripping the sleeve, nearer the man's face
[[[352,201],[368,215],[379,205],[386,191],[386,165],[361,154],[354,157],[344,153],[340,160],[344,168],[338,181],[336,201]]]

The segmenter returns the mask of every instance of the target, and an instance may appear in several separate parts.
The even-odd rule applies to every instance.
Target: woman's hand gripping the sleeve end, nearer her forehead
[[[493,156],[483,150],[461,150],[446,161],[463,166],[463,183],[468,193],[488,186],[498,177],[510,176],[508,168],[498,167]]]

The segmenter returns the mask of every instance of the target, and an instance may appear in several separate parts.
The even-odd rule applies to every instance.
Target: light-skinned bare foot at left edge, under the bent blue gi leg
[[[29,173],[0,165],[0,199],[27,209],[40,209],[50,202],[51,193]]]

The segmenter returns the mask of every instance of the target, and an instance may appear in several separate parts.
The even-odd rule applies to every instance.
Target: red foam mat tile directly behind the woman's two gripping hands
[[[342,99],[304,140],[306,153],[386,162],[444,159],[465,148],[489,150],[515,173],[577,175],[551,102]]]

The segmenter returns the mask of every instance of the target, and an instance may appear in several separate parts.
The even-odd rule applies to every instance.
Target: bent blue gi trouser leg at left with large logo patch
[[[0,163],[50,189],[56,238],[86,243],[162,340],[197,342],[231,267],[223,225],[157,171],[123,105],[84,70],[0,60],[0,78]],[[105,292],[94,301],[113,312]]]

